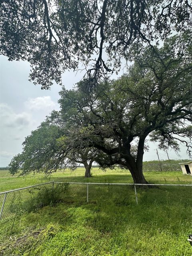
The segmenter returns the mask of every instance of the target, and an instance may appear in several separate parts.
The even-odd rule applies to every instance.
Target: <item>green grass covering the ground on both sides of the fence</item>
[[[129,172],[92,169],[58,172],[55,181],[132,183]],[[192,184],[182,172],[145,173],[151,183]],[[45,181],[42,174],[12,178],[0,171],[1,189]],[[191,256],[187,235],[192,233],[192,188],[138,188],[138,205],[130,186],[71,187],[59,203],[24,213],[0,224],[1,256]],[[70,196],[69,196],[70,195]],[[10,232],[10,230],[12,231]],[[10,236],[12,239],[10,239]]]

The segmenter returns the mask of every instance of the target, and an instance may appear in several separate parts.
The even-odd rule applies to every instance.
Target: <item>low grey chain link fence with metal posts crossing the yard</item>
[[[47,182],[0,193],[0,225],[47,205],[164,204],[192,207],[192,185]]]

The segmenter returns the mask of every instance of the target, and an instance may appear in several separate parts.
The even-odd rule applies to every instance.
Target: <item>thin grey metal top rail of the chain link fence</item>
[[[138,183],[95,183],[95,182],[54,182],[54,181],[50,181],[50,182],[45,182],[45,183],[41,183],[41,184],[37,184],[37,185],[33,185],[33,186],[28,186],[28,187],[24,187],[24,188],[16,188],[13,190],[8,190],[8,191],[4,191],[4,192],[0,192],[1,194],[6,194],[6,193],[10,193],[10,192],[15,192],[18,190],[23,190],[26,188],[34,188],[34,187],[38,187],[38,186],[42,186],[42,185],[46,185],[46,184],[50,184],[50,183],[55,183],[55,184],[84,184],[84,185],[136,185],[136,186],[192,186],[192,184],[138,184]]]

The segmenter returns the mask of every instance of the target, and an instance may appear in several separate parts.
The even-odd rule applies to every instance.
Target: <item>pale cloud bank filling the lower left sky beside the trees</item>
[[[0,165],[6,166],[11,158],[22,152],[22,142],[46,116],[58,109],[50,96],[28,98],[18,111],[8,104],[0,104]],[[13,152],[13,153],[10,153]]]

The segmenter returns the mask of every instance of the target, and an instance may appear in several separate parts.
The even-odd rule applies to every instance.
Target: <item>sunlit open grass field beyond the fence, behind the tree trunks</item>
[[[29,174],[27,176],[12,176],[8,170],[0,170],[0,192],[22,188],[49,181],[59,182],[104,182],[104,183],[133,183],[129,171],[116,169],[100,170],[98,167],[91,169],[93,177],[84,178],[84,168],[77,168],[76,171],[69,169],[55,172],[52,176],[45,177],[44,174]],[[145,172],[146,180],[153,184],[192,184],[192,177],[183,175],[180,172]]]

